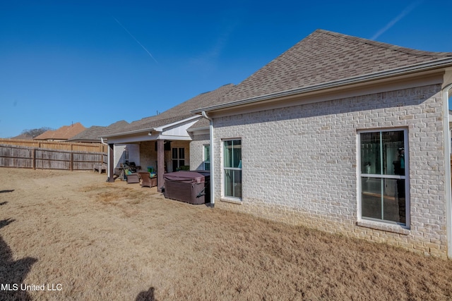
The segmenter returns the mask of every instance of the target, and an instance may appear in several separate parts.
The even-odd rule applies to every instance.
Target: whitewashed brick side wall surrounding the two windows
[[[446,257],[442,107],[428,85],[215,118],[215,206]],[[408,228],[359,220],[357,135],[380,128],[408,130]],[[242,202],[222,198],[230,138],[242,140]]]

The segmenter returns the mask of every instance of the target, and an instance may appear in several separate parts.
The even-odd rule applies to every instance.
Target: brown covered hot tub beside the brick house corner
[[[165,173],[165,197],[190,204],[210,202],[209,171]]]

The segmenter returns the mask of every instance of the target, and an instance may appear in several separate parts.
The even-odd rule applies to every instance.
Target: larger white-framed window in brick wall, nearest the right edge
[[[359,133],[362,219],[406,224],[406,130]]]

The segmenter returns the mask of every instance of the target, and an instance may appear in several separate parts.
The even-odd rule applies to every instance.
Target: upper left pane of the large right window
[[[361,134],[361,173],[381,172],[380,133]]]

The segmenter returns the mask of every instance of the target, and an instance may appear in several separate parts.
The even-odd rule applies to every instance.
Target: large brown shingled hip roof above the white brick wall
[[[420,51],[316,30],[235,86],[218,102],[199,106],[201,109],[194,112],[441,59],[452,59],[452,52]]]

